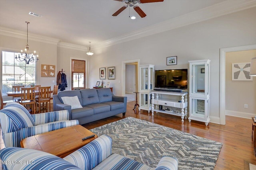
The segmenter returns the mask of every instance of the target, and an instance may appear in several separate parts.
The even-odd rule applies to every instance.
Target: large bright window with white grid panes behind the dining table
[[[2,51],[2,95],[12,92],[12,86],[30,87],[36,84],[36,63],[17,61],[18,53]]]

